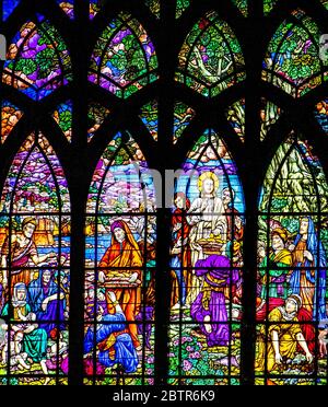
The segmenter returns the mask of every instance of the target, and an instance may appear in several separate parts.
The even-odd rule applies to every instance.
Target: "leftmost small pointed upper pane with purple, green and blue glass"
[[[9,46],[2,82],[39,101],[71,81],[71,60],[58,31],[40,14]]]

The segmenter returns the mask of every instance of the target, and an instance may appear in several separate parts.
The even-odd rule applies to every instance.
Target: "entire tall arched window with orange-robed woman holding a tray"
[[[139,146],[127,132],[116,135],[86,208],[85,384],[120,384],[116,364],[126,384],[153,384],[155,208]]]

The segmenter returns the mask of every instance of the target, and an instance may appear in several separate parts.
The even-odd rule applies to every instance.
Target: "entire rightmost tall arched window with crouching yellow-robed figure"
[[[317,346],[327,324],[327,197],[317,156],[291,133],[259,201],[257,384],[327,384]]]

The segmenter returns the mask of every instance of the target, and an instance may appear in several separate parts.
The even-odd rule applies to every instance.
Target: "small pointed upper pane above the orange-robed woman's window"
[[[102,33],[92,55],[89,80],[126,98],[157,79],[152,40],[130,14],[120,13]]]

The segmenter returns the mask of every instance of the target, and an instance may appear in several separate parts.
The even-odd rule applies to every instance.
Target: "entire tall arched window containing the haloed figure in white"
[[[172,233],[169,384],[237,384],[244,197],[212,130],[177,178]]]

